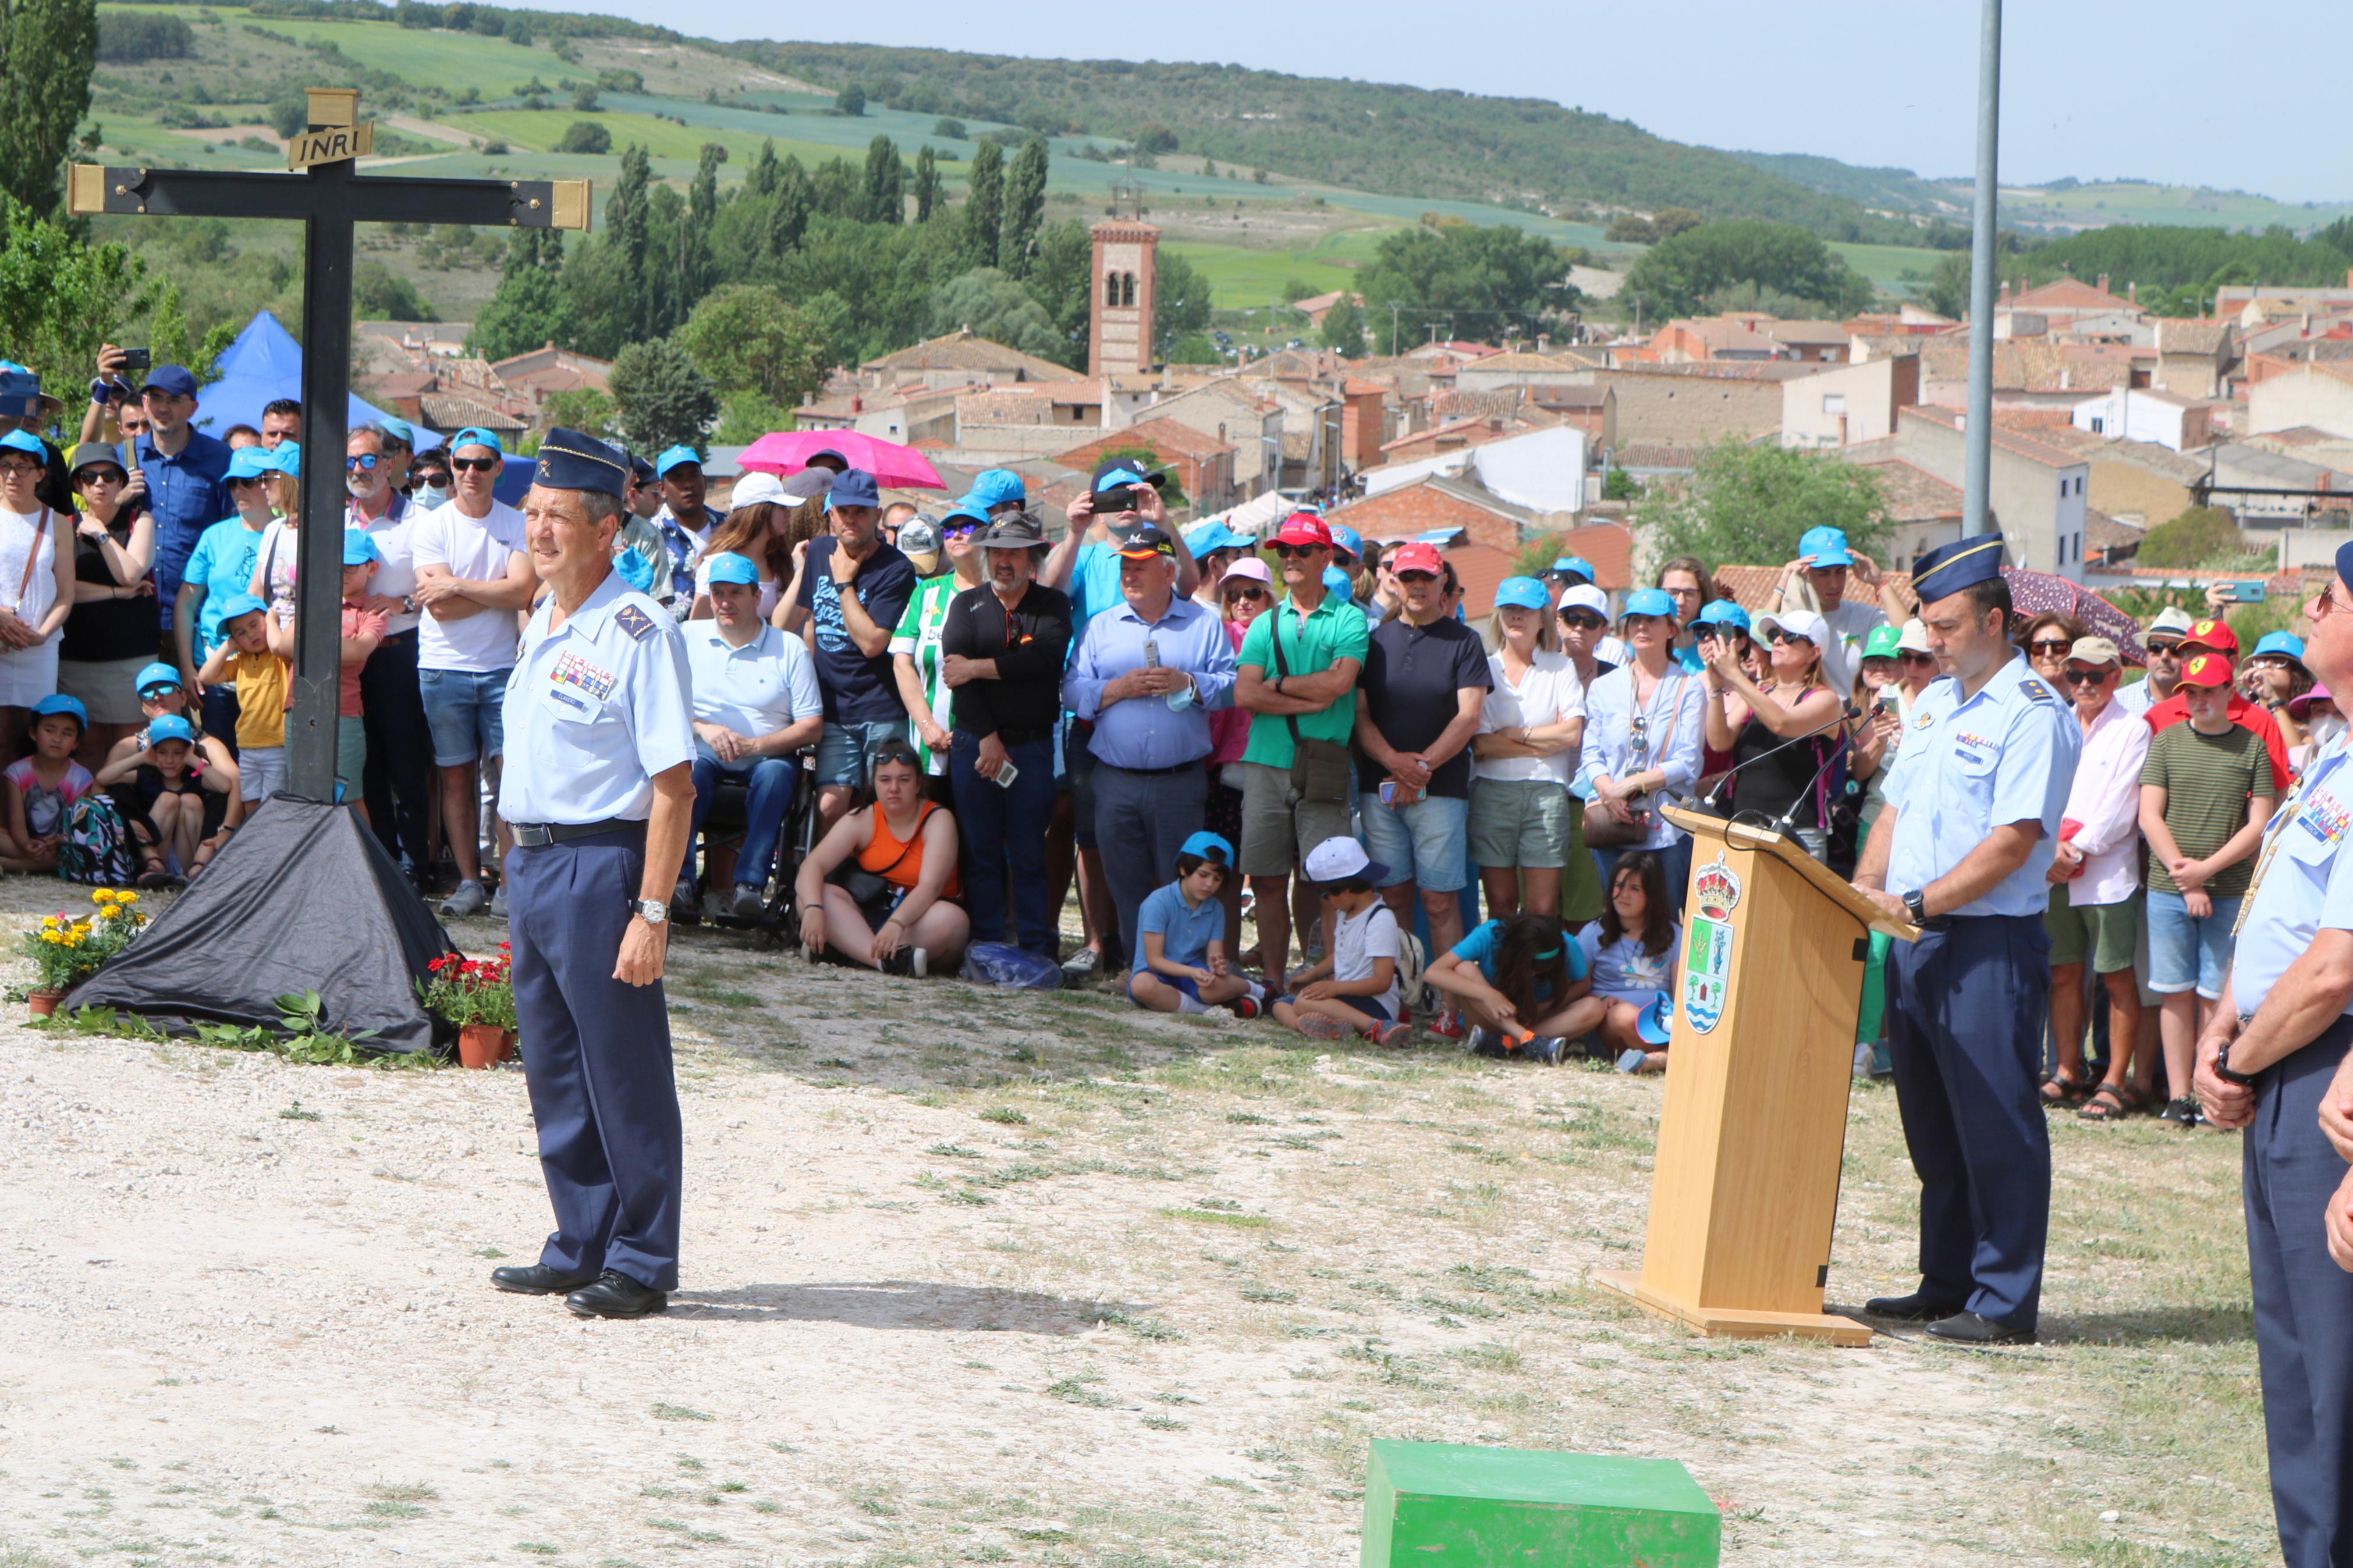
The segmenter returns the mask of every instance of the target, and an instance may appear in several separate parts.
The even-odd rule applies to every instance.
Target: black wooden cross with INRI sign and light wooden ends
[[[169,219],[294,219],[304,226],[301,289],[301,552],[294,729],[287,783],[334,799],[334,719],[341,665],[344,440],[351,407],[351,226],[473,223],[588,228],[588,181],[362,179],[353,158],[369,146],[360,94],[311,89],[311,134],[287,148],[294,174],[136,169],[73,165],[66,202],[75,214]]]

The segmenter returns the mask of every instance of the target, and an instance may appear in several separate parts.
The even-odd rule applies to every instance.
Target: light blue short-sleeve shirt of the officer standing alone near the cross
[[[553,599],[532,611],[506,682],[499,816],[645,820],[654,773],[694,759],[685,637],[616,571],[555,630],[551,611]]]

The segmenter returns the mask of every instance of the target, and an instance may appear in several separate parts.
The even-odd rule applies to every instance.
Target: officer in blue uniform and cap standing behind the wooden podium
[[[1922,929],[1887,959],[1920,1288],[1864,1309],[1965,1345],[2031,1342],[2052,1199],[2035,1084],[2052,987],[2045,875],[2082,741],[2066,698],[2009,644],[2000,534],[1929,550],[1913,588],[1944,677],[1913,703],[1854,886]]]

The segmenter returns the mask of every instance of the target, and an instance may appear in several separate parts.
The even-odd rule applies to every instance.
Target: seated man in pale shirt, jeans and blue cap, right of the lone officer
[[[704,832],[720,778],[741,780],[744,844],[727,914],[755,919],[767,907],[776,830],[793,804],[795,752],[816,745],[826,710],[816,696],[816,665],[800,637],[786,637],[760,618],[760,567],[744,555],[713,555],[708,583],[711,621],[680,628],[694,677],[694,832]],[[711,844],[704,844],[704,875],[718,891]],[[671,903],[694,905],[692,867],[680,875]]]

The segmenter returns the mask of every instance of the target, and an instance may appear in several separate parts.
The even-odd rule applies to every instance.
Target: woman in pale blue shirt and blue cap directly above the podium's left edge
[[[1593,851],[1602,884],[1626,849],[1657,851],[1666,898],[1682,910],[1692,870],[1692,835],[1659,806],[1678,804],[1699,778],[1699,729],[1706,686],[1671,658],[1675,602],[1659,588],[1626,595],[1621,623],[1633,663],[1586,689],[1586,743],[1577,769],[1586,830],[1609,823],[1617,844]]]

